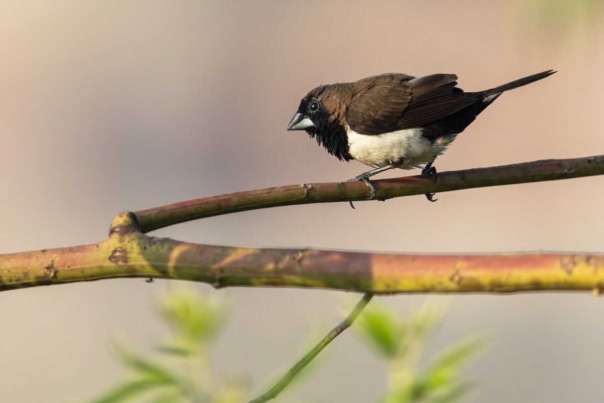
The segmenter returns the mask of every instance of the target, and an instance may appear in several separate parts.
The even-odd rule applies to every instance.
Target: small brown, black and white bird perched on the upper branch
[[[422,175],[434,175],[436,181],[435,158],[480,112],[503,92],[554,73],[547,70],[478,92],[458,88],[455,74],[385,73],[320,85],[302,98],[288,131],[306,131],[340,161],[373,167],[349,179],[364,181],[373,199],[376,187],[369,178],[385,170],[422,167]],[[426,193],[429,201],[437,200],[433,196]]]

